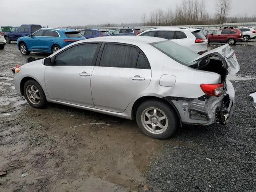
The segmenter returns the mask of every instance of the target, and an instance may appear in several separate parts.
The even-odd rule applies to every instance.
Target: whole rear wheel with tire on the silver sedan
[[[156,115],[154,115],[155,111]],[[158,100],[148,100],[140,104],[136,111],[136,122],[146,136],[155,139],[169,138],[178,127],[178,118],[175,112],[164,102]],[[145,124],[146,122],[148,123]],[[155,126],[155,131],[153,126]]]

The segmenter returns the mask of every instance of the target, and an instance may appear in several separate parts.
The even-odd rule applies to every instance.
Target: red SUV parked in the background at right
[[[220,29],[207,35],[208,42],[236,44],[243,40],[242,32],[239,29]]]

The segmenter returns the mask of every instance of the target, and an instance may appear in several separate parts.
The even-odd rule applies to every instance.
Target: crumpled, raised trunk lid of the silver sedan
[[[196,59],[192,60],[190,63],[195,61],[199,63],[201,60],[214,56],[221,58],[223,67],[228,71],[230,75],[234,75],[240,70],[240,66],[236,59],[236,55],[234,54],[234,50],[228,44],[205,52],[204,54],[198,56]]]

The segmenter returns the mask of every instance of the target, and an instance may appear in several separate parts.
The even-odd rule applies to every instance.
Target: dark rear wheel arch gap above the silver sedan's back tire
[[[167,102],[163,98],[159,98],[159,97],[156,97],[156,96],[142,96],[134,102],[134,104],[132,106],[132,119],[133,120],[136,119],[136,111],[138,110],[138,107],[140,106],[140,104],[142,104],[143,102],[148,101],[148,100],[158,100],[160,102],[163,102],[167,106],[169,106],[174,111],[177,118],[179,119],[178,121],[180,122],[180,125],[182,124],[180,113],[178,112],[178,109],[175,107],[175,105],[172,103],[172,101]]]

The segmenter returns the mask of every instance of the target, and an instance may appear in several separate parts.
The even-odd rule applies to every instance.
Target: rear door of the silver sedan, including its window
[[[121,113],[150,83],[150,65],[141,50],[134,46],[114,43],[103,46],[92,72],[94,106]]]

